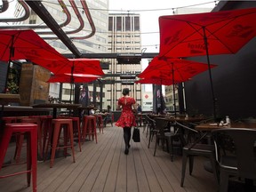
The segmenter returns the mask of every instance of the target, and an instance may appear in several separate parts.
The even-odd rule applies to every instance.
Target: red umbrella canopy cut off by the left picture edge
[[[65,57],[31,29],[0,29],[0,39],[0,60],[32,60],[45,57],[65,60]]]

